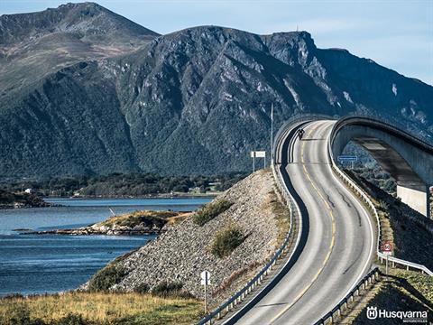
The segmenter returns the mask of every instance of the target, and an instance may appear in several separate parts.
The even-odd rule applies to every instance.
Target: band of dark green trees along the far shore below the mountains
[[[221,176],[161,176],[153,173],[113,173],[106,176],[78,176],[49,181],[0,181],[0,188],[11,192],[32,188],[41,196],[87,197],[146,196],[161,193],[200,194],[229,189],[246,173]]]

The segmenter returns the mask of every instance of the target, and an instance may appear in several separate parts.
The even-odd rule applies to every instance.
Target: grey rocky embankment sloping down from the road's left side
[[[222,202],[225,208],[219,212]],[[255,172],[201,211],[178,224],[166,226],[166,231],[146,246],[108,265],[106,269],[115,268],[121,274],[108,289],[131,292],[148,288],[152,292],[161,283],[177,283],[185,292],[203,298],[200,273],[207,270],[211,279],[208,298],[220,302],[244,285],[281,244],[289,219],[288,211],[281,208],[272,173]],[[198,215],[208,216],[203,210],[217,213],[210,219],[198,218]],[[238,246],[228,254],[224,253],[225,234],[233,236],[230,238],[242,234],[236,237]],[[221,249],[216,247],[223,248],[222,257],[218,256]],[[104,274],[104,270],[99,274]],[[90,286],[92,281],[97,282],[97,276],[90,281]]]

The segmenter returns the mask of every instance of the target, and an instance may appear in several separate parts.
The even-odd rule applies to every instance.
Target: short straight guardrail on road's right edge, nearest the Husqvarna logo
[[[314,325],[324,325],[327,324],[327,322],[332,323],[336,317],[341,315],[341,311],[345,311],[348,308],[350,302],[354,302],[355,297],[360,294],[361,290],[364,290],[367,285],[374,283],[379,279],[380,274],[379,268],[374,268],[369,274],[365,275],[360,282],[356,283],[354,289],[347,293],[345,298],[338,302],[332,311],[329,311],[320,320],[316,321]]]

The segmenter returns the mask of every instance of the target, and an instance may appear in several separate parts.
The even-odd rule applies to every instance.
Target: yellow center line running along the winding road
[[[318,125],[316,125],[315,127],[313,127],[309,131],[309,134],[307,136],[311,135],[314,131],[316,131],[317,128],[318,128]],[[325,200],[325,198],[322,195],[321,191],[318,190],[318,186],[316,185],[316,183],[313,180],[311,180],[311,176],[310,176],[309,172],[307,171],[307,168],[305,167],[304,148],[305,148],[305,142],[303,141],[302,145],[300,147],[300,160],[301,160],[301,163],[302,163],[302,167],[303,167],[305,175],[309,179],[309,182],[313,186],[314,190],[316,190],[318,192],[318,196],[320,197],[321,200],[323,200],[323,202],[325,203],[325,206],[327,207],[327,212],[328,212],[328,214],[329,214],[329,216],[330,216],[330,218],[332,220],[332,238],[331,238],[331,243],[330,243],[328,251],[327,251],[327,255],[326,255],[326,257],[325,257],[325,259],[323,261],[322,266],[318,270],[318,273],[315,274],[313,276],[311,282],[309,284],[307,284],[307,286],[301,292],[299,292],[299,294],[296,296],[296,298],[295,298],[295,300],[293,302],[291,302],[289,305],[287,305],[286,307],[284,307],[277,315],[275,315],[275,317],[272,318],[271,324],[275,320],[278,320],[284,312],[288,311],[296,302],[298,302],[299,299],[302,298],[302,296],[305,294],[305,292],[307,292],[309,290],[309,288],[313,285],[313,283],[315,283],[316,280],[318,280],[318,275],[320,275],[323,272],[323,270],[325,269],[325,265],[327,265],[327,261],[329,260],[329,257],[331,256],[332,249],[334,248],[334,244],[336,242],[336,218],[334,218],[334,213],[332,212],[332,209],[329,206],[329,203],[327,203],[327,200]]]

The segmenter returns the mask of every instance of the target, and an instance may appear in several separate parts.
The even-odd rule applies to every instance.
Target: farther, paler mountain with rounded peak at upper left
[[[0,16],[2,96],[82,60],[134,51],[159,34],[92,4]]]

